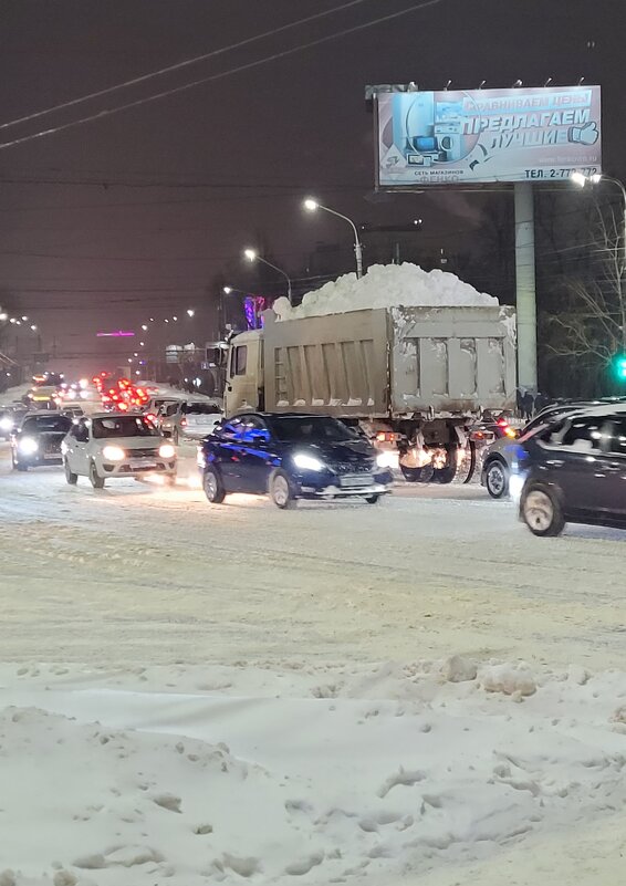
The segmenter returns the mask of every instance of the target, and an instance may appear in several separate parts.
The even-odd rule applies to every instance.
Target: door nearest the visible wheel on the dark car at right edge
[[[603,435],[606,435],[606,416],[574,416],[544,444],[549,479],[560,487],[566,515],[573,520],[593,522],[602,507]]]

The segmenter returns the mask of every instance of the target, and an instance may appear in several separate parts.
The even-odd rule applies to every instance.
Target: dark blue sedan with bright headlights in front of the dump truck
[[[207,499],[230,492],[270,498],[279,508],[296,499],[361,498],[374,504],[392,488],[374,447],[330,416],[249,413],[205,439],[198,465]]]

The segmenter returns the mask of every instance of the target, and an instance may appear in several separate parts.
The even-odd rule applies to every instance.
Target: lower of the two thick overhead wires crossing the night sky
[[[149,102],[157,102],[160,98],[166,98],[169,95],[176,95],[179,92],[195,88],[196,86],[200,86],[204,83],[212,83],[217,80],[222,80],[223,77],[231,76],[232,74],[239,74],[243,71],[250,71],[253,67],[259,67],[262,64],[268,64],[269,62],[277,61],[278,59],[285,59],[289,55],[295,54],[296,52],[302,52],[306,49],[312,49],[313,46],[320,46],[323,43],[328,43],[332,40],[338,40],[340,38],[346,37],[347,34],[353,34],[358,31],[364,31],[365,29],[373,28],[376,24],[382,24],[384,22],[398,19],[401,15],[407,15],[409,12],[415,12],[417,10],[425,9],[426,7],[437,6],[442,1],[444,0],[421,0],[419,3],[413,3],[410,7],[400,9],[397,12],[390,12],[387,15],[380,15],[377,19],[372,19],[367,22],[355,24],[352,28],[344,28],[341,31],[335,31],[332,34],[326,34],[326,37],[321,37],[317,40],[312,40],[309,41],[307,43],[300,43],[296,46],[291,46],[290,49],[281,50],[280,52],[274,52],[271,55],[267,55],[263,59],[257,59],[253,62],[247,62],[244,64],[237,65],[236,67],[231,67],[227,71],[221,71],[206,77],[200,77],[199,80],[191,81],[190,83],[184,83],[180,86],[174,86],[173,88],[164,90],[163,92],[155,93],[154,95],[147,95],[144,98],[136,98],[133,102],[126,102],[125,104],[117,105],[116,107],[104,108],[103,111],[95,112],[94,114],[88,114],[84,117],[79,117],[77,119],[69,121],[67,123],[62,123],[59,126],[51,126],[50,128],[41,129],[38,133],[31,133],[30,135],[24,135],[21,136],[20,138],[13,138],[10,142],[2,142],[0,143],[0,149],[14,147],[17,145],[24,144],[25,142],[32,142],[35,138],[43,138],[46,135],[54,135],[56,133],[63,132],[64,129],[70,129],[75,126],[82,126],[85,123],[91,123],[96,119],[103,119],[104,117],[108,117],[112,114],[119,114],[122,111],[128,111],[132,107],[138,107],[139,105],[145,105],[148,104]]]

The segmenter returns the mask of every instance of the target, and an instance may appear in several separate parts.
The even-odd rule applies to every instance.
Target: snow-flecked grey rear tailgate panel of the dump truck
[[[389,335],[394,415],[514,407],[512,308],[392,309]]]

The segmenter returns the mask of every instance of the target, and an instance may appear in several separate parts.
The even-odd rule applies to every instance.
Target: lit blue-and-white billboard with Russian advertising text
[[[378,92],[377,107],[380,188],[602,171],[599,86]]]

